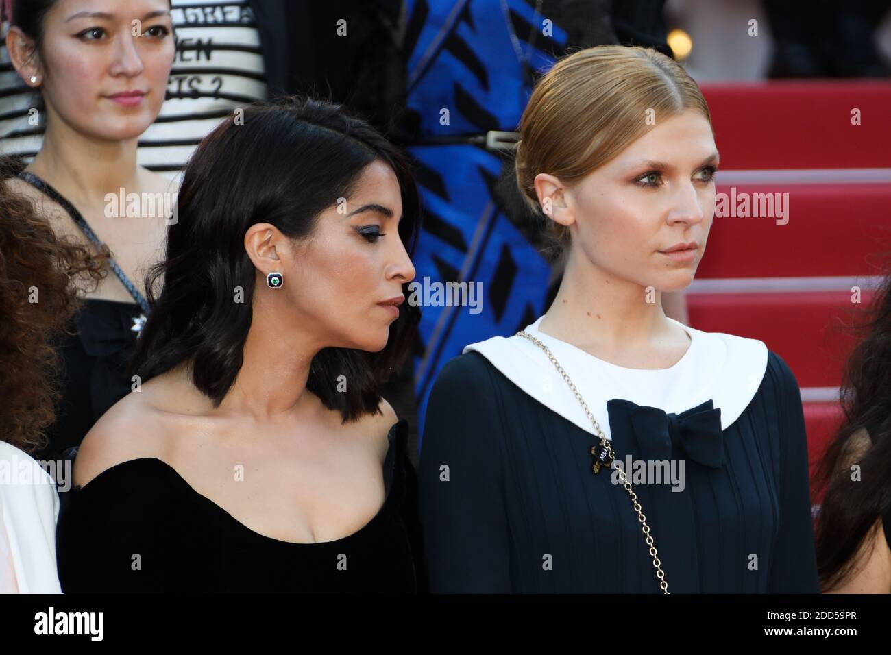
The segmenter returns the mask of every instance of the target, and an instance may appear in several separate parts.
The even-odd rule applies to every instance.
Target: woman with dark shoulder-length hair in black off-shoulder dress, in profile
[[[411,346],[420,208],[339,105],[252,105],[200,143],[146,282],[135,392],[86,436],[65,592],[413,592],[416,479],[381,385]]]

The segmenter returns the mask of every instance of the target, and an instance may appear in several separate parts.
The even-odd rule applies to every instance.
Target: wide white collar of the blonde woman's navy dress
[[[681,413],[712,400],[721,409],[721,429],[726,430],[748,407],[767,370],[763,341],[723,332],[702,332],[674,319],[690,335],[691,345],[677,364],[668,369],[630,369],[610,364],[572,344],[538,330],[544,316],[527,325],[526,332],[541,340],[569,378],[601,426],[609,433],[607,401],[616,397],[637,405],[656,406],[666,413]],[[595,434],[582,406],[544,350],[518,337],[493,337],[471,343],[475,350],[511,382],[535,400],[559,413],[579,428]]]

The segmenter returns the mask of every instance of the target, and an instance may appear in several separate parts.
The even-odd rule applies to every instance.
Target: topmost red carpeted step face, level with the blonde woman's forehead
[[[702,85],[721,168],[889,168],[891,84]],[[860,125],[852,111],[860,110]]]

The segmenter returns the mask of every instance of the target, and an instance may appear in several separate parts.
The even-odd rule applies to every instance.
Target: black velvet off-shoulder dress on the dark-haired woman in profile
[[[425,592],[417,478],[407,434],[405,420],[389,431],[387,495],[380,512],[354,534],[329,542],[260,535],[159,459],[112,466],[72,491],[59,518],[62,592]]]

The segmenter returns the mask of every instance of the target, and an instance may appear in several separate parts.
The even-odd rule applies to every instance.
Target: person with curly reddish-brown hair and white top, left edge
[[[55,341],[78,307],[72,279],[102,279],[104,256],[58,239],[0,162],[0,594],[58,594],[59,495],[32,457],[61,396]]]

